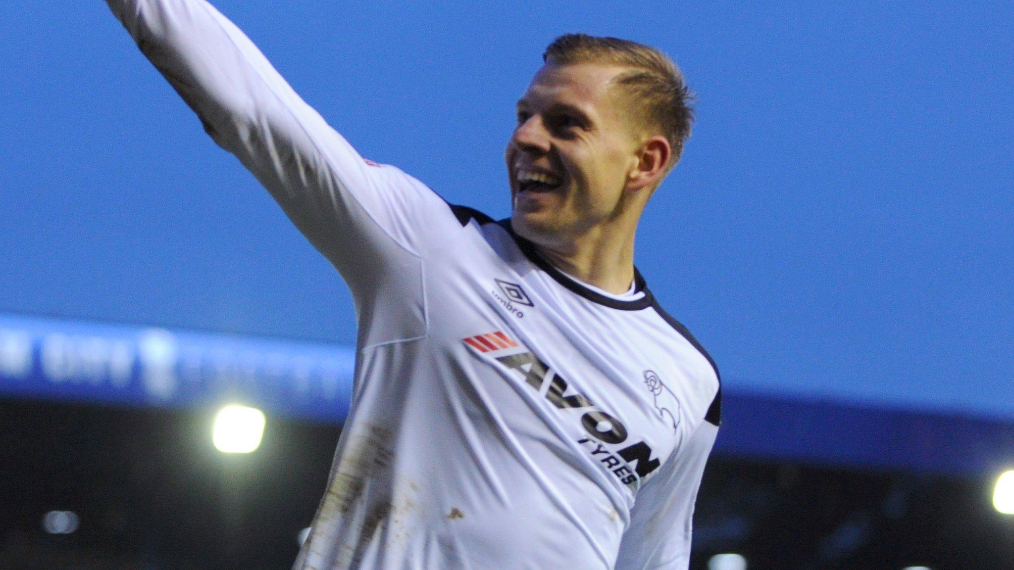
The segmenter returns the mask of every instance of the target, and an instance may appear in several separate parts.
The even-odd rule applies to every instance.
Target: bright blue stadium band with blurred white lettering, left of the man
[[[354,351],[0,314],[0,396],[155,407],[242,403],[342,422]]]

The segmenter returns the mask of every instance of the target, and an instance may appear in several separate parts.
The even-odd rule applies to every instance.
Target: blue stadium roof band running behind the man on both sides
[[[355,351],[0,313],[0,397],[133,407],[242,403],[341,423]],[[716,452],[955,475],[1014,467],[1014,421],[726,386]]]

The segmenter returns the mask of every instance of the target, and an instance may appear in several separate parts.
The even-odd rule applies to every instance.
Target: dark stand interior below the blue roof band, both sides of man
[[[323,493],[340,429],[269,418],[248,455],[211,445],[213,410],[2,402],[0,568],[282,569]],[[1014,517],[993,481],[718,455],[691,568],[735,552],[750,570],[999,570]],[[72,535],[43,530],[74,510]]]

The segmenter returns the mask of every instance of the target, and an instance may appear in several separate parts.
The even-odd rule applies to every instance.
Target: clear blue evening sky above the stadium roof
[[[363,155],[496,217],[546,44],[661,48],[698,122],[638,266],[729,389],[1014,418],[1014,4],[217,5]],[[102,2],[0,30],[0,311],[353,343],[337,273]]]

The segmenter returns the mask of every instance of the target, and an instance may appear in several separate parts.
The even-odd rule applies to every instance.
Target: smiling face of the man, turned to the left
[[[623,68],[547,65],[517,104],[507,144],[512,225],[566,247],[620,214],[637,141],[611,80]]]

